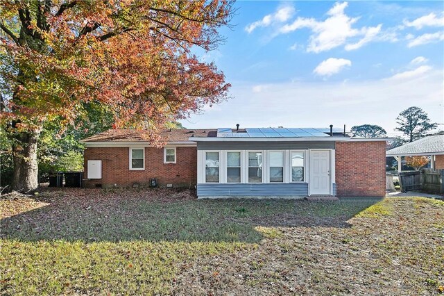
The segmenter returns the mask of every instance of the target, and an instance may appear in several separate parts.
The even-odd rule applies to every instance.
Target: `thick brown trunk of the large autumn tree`
[[[38,131],[14,133],[12,135],[12,162],[14,174],[12,189],[28,193],[39,186],[37,164]]]

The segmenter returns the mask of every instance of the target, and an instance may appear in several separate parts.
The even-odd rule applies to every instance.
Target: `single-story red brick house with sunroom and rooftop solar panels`
[[[339,129],[176,129],[156,148],[141,131],[83,140],[85,186],[197,188],[206,197],[384,196],[383,138]]]

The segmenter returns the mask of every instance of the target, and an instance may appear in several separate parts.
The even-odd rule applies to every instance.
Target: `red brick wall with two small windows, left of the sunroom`
[[[128,147],[90,147],[85,149],[85,179],[87,161],[102,161],[102,179],[85,181],[85,187],[101,184],[103,188],[148,186],[151,178],[157,178],[160,186],[167,183],[174,187],[190,186],[197,179],[196,147],[176,147],[176,163],[164,163],[164,149],[145,148],[145,170],[129,170]]]

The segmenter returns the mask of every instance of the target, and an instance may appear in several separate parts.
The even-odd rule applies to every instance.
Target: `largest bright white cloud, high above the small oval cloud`
[[[279,33],[290,33],[300,28],[311,29],[312,34],[309,38],[307,51],[315,53],[339,47],[345,44],[348,38],[363,36],[363,38],[356,43],[348,44],[347,50],[358,49],[377,37],[379,31],[381,31],[382,24],[375,27],[353,28],[352,25],[358,21],[359,17],[349,17],[346,15],[344,10],[347,6],[347,2],[336,2],[327,12],[329,17],[324,21],[298,17],[291,24],[282,26]]]

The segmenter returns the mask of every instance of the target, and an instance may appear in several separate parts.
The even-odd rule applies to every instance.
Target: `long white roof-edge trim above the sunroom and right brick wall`
[[[309,138],[188,138],[194,142],[380,142],[393,138],[348,138],[348,137],[309,137]]]

